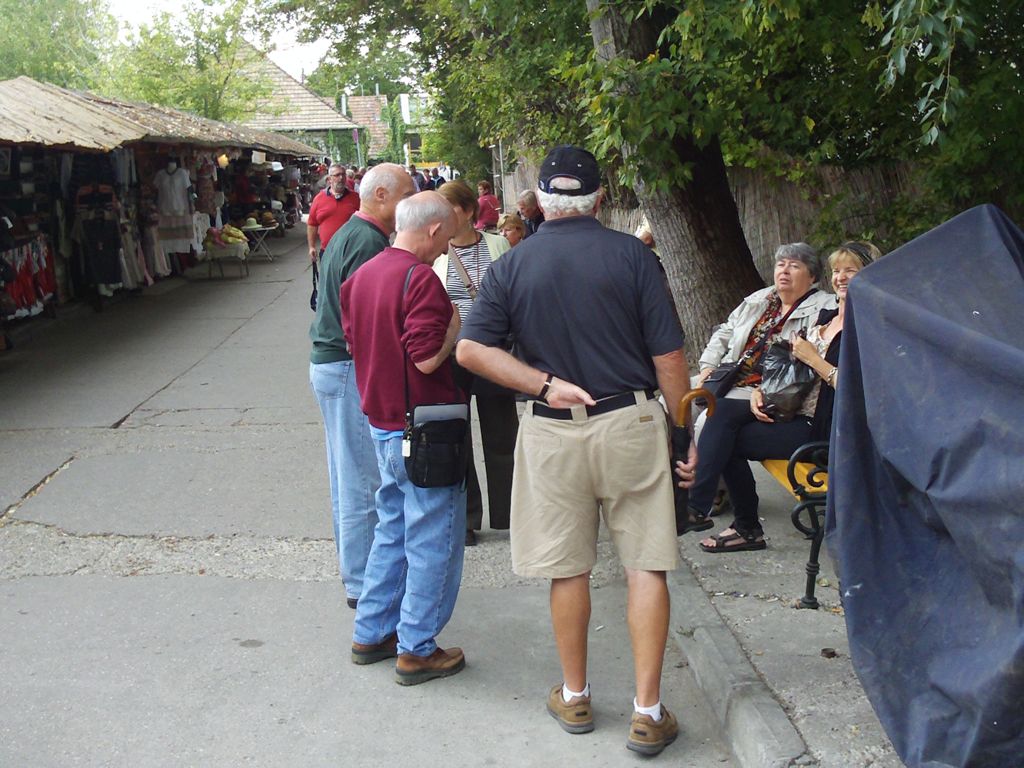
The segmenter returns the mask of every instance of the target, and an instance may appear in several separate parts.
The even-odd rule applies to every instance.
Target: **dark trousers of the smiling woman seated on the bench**
[[[757,483],[749,462],[788,459],[810,439],[810,419],[798,416],[791,422],[765,424],[751,413],[750,400],[723,397],[700,432],[690,506],[708,514],[721,477],[735,510],[731,527],[740,534],[762,536]]]

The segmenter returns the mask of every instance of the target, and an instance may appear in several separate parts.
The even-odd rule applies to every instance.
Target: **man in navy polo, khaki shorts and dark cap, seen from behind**
[[[570,733],[594,729],[587,680],[590,571],[599,515],[626,568],[636,696],[627,746],[656,755],[675,740],[662,706],[669,630],[666,571],[678,564],[669,423],[689,389],[683,334],[654,254],[606,229],[594,156],[552,150],[541,166],[537,233],[496,261],[463,327],[460,365],[536,398],[519,425],[512,485],[512,566],[551,580],[563,682],[548,712]],[[509,335],[520,359],[504,350]],[[677,464],[688,487],[696,451]]]

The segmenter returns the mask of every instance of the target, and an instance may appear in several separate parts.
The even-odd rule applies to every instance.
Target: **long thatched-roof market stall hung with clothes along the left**
[[[286,170],[313,155],[167,108],[0,82],[0,322],[73,299],[101,308],[181,273],[232,219],[283,233],[298,220],[294,201],[286,211]]]

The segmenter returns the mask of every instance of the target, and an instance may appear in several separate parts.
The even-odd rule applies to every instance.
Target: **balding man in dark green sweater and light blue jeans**
[[[324,416],[334,539],[351,608],[362,592],[362,573],[374,542],[374,495],[380,474],[341,330],[338,293],[352,272],[387,248],[394,231],[394,209],[415,191],[410,175],[392,163],[375,166],[362,177],[359,210],[331,238],[321,260],[316,317],[309,328],[309,383]]]

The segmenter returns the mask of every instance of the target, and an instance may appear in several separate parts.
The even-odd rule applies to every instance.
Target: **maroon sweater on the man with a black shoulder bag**
[[[417,266],[402,296],[413,265]],[[437,354],[454,311],[429,264],[400,248],[385,248],[341,284],[340,300],[362,412],[373,426],[406,427],[403,365],[412,406],[466,401],[446,362],[432,374],[413,365]]]

